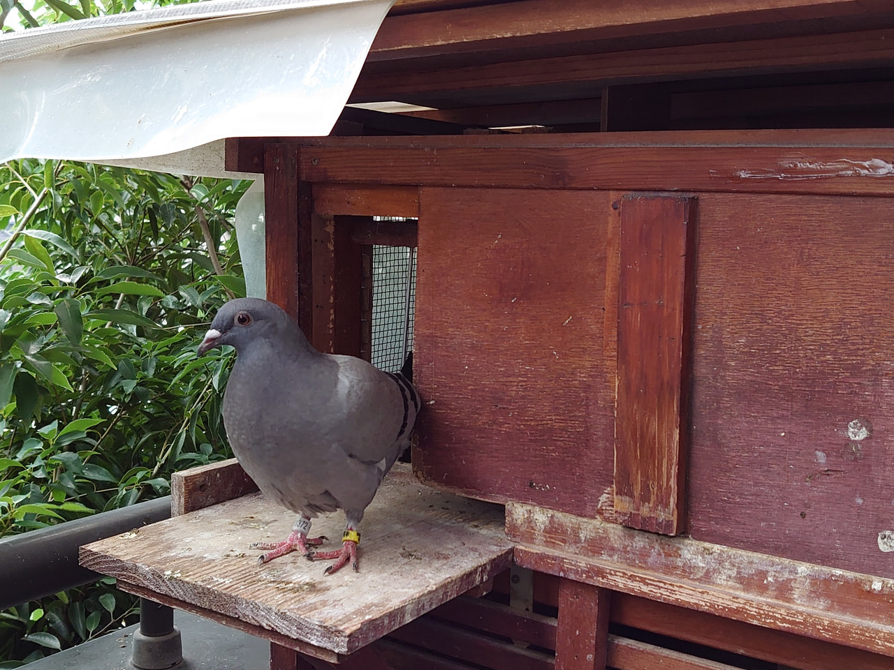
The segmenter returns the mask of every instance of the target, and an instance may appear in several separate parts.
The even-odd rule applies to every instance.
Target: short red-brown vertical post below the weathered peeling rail
[[[559,582],[556,670],[604,670],[611,592],[582,582]]]

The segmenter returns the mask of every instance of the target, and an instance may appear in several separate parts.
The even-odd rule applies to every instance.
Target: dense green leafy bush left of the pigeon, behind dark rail
[[[229,455],[229,359],[196,346],[244,292],[228,219],[246,186],[0,166],[0,535],[164,495],[174,470]],[[0,667],[131,623],[132,605],[100,582],[8,610]]]

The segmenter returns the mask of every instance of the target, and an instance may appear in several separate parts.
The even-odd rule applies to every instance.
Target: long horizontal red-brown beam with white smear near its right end
[[[302,153],[301,175],[310,181],[443,187],[839,195],[894,190],[890,147],[559,147],[550,145],[549,135],[528,137],[547,139],[539,147],[492,141],[436,152],[435,145],[311,147]]]

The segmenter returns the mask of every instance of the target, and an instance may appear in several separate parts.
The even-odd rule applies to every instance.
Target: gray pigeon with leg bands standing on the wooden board
[[[221,307],[198,347],[236,349],[223,394],[233,453],[264,494],[299,514],[288,539],[258,559],[297,549],[311,559],[349,561],[357,570],[358,525],[382,478],[409,445],[419,396],[402,374],[354,356],[321,354],[280,307],[254,297]],[[310,520],[343,509],[342,549],[314,552]]]

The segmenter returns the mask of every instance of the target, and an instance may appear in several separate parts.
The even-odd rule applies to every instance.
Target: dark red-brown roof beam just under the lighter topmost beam
[[[586,46],[573,55],[531,57],[494,62],[460,61],[455,67],[431,63],[409,70],[401,63],[369,63],[361,72],[350,103],[401,100],[433,106],[436,100],[476,99],[486,104],[531,99],[538,88],[557,88],[570,97],[587,96],[596,87],[648,81],[715,78],[772,72],[885,67],[894,57],[892,29],[796,35],[784,38],[742,39],[736,42],[707,39],[701,44],[618,48],[599,52]],[[592,45],[589,46],[592,49]],[[626,48],[620,46],[620,48]],[[425,63],[424,61],[422,63]]]

